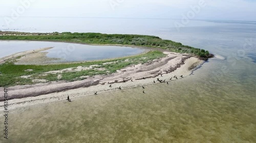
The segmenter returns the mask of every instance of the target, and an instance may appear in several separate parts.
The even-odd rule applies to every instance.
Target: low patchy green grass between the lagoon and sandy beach
[[[0,65],[0,87],[8,87],[11,85],[33,84],[34,79],[45,79],[48,81],[74,81],[82,80],[84,76],[94,76],[102,74],[111,74],[126,66],[134,64],[144,64],[154,59],[159,59],[166,56],[161,51],[151,51],[145,54],[130,56],[128,58],[119,58],[105,61],[93,61],[86,63],[68,63],[68,64],[53,64],[53,65],[15,65],[15,59],[7,61]],[[76,71],[78,66],[88,68],[81,71]],[[89,67],[92,68],[89,68]],[[62,73],[46,73],[49,71],[56,71],[70,68],[70,71],[63,71]],[[26,71],[32,69],[33,71]],[[29,76],[23,78],[20,76]],[[59,77],[59,78],[58,78]],[[34,80],[34,82],[33,82]]]

